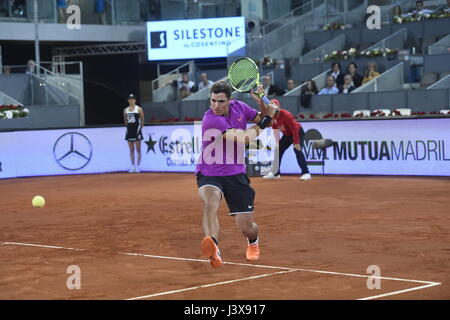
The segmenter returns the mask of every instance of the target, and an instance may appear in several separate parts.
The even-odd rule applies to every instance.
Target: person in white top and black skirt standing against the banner
[[[123,110],[123,119],[127,132],[125,140],[128,141],[130,148],[131,168],[128,172],[141,172],[139,165],[141,164],[141,140],[142,128],[144,127],[144,111],[136,105],[136,97],[134,94],[128,96],[128,107]],[[135,162],[134,150],[137,153],[137,164]]]

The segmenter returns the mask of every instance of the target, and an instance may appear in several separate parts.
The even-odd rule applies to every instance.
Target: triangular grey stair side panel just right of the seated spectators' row
[[[389,70],[369,82],[356,88],[352,93],[396,91],[404,89],[403,62],[399,62]]]

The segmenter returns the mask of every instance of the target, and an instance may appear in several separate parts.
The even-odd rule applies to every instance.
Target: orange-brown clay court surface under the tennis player
[[[450,180],[253,178],[261,259],[221,207],[224,266],[200,256],[192,174],[0,181],[0,299],[450,299]],[[33,208],[36,194],[44,208]],[[66,287],[68,266],[81,289]],[[368,289],[381,269],[381,288]]]

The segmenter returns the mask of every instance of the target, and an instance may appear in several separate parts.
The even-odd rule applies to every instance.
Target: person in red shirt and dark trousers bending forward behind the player
[[[277,99],[272,99],[271,102],[280,107],[273,117],[272,129],[279,129],[283,133],[283,137],[279,141],[278,171],[275,173],[270,172],[263,178],[280,178],[281,159],[283,158],[284,152],[291,146],[291,144],[293,144],[298,165],[302,170],[302,176],[300,177],[300,180],[311,180],[311,175],[309,174],[308,166],[306,165],[306,158],[301,148],[301,145],[304,144],[303,138],[305,136],[305,131],[303,130],[300,123],[297,122],[292,113],[287,110],[281,109],[280,102]]]

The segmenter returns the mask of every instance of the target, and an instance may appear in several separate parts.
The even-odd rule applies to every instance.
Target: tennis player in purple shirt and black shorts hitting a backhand
[[[263,90],[261,87],[259,90]],[[222,265],[219,251],[220,200],[225,198],[230,215],[248,239],[246,258],[259,259],[258,225],[253,222],[255,191],[246,175],[243,151],[246,143],[255,139],[266,128],[277,106],[267,106],[262,115],[247,104],[231,99],[231,87],[218,81],[211,87],[210,109],[202,120],[202,155],[196,168],[198,193],[203,200],[202,254],[213,268]],[[258,102],[260,98],[252,93]],[[256,123],[248,129],[247,122]]]

